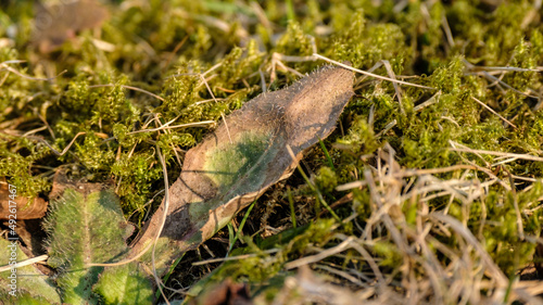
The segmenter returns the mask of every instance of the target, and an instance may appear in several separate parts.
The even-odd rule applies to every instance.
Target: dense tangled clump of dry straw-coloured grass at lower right
[[[318,264],[323,262],[319,259],[325,259],[320,256],[332,253],[338,255],[339,250],[349,249],[345,241],[350,242],[352,249],[354,244],[361,243],[369,249],[388,243],[395,249],[397,259],[401,259],[395,272],[396,277],[401,275],[402,281],[396,290],[401,294],[409,295],[409,304],[495,304],[507,297],[509,287],[510,301],[533,304],[542,302],[535,296],[540,287],[528,285],[528,282],[523,281],[509,281],[478,238],[468,229],[465,219],[459,220],[442,212],[430,212],[428,206],[440,196],[445,199],[449,196],[451,202],[459,201],[463,205],[469,206],[472,202],[484,199],[488,189],[496,183],[497,179],[492,177],[484,181],[468,179],[472,176],[470,173],[481,170],[480,167],[469,164],[428,169],[401,168],[393,156],[393,150],[386,145],[376,155],[375,167],[364,171],[364,179],[337,188],[338,190],[367,189],[372,204],[362,237],[356,239],[344,237],[343,243],[326,250],[330,251],[329,253],[321,251],[316,255],[290,262],[288,264],[292,265],[286,267]],[[463,170],[464,175],[458,179],[441,180],[432,176]],[[409,183],[407,179],[411,180]],[[411,220],[414,224],[407,224],[406,215],[399,212],[397,206],[406,208],[413,203],[417,206],[416,217]],[[518,205],[516,207],[518,215]],[[481,225],[480,228],[484,226]],[[446,240],[453,237],[459,246],[444,244],[437,239]],[[363,252],[358,253],[366,258]],[[447,259],[443,259],[442,255]],[[372,256],[375,257],[375,252]],[[370,260],[367,262],[371,266]],[[361,290],[361,293],[365,291],[367,295],[371,295],[374,304],[403,304],[403,301],[388,300],[383,291],[380,291],[383,287],[390,287],[390,280],[386,279],[379,258],[377,263],[371,267],[376,280],[371,285],[374,289]],[[337,276],[345,278],[343,275]],[[527,285],[530,289],[526,288]],[[387,291],[384,294],[389,293],[388,290],[384,291]]]

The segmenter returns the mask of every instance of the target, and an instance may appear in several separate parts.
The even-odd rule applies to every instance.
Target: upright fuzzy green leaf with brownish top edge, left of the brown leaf
[[[112,191],[93,185],[67,189],[53,202],[47,220],[49,264],[60,270],[58,284],[62,301],[70,304],[97,304],[91,291],[103,267],[91,263],[118,259],[126,251],[127,225]]]

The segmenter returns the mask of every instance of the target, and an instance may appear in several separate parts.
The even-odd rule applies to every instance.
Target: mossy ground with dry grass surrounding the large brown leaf
[[[20,195],[47,195],[59,168],[113,180],[127,219],[140,227],[164,188],[155,145],[174,181],[184,152],[213,125],[132,131],[173,119],[218,122],[262,92],[263,81],[275,90],[298,79],[294,71],[324,64],[283,61],[287,71],[274,53],[308,56],[316,48],[366,71],[389,61],[396,78],[434,89],[397,91],[358,75],[339,128],[304,158],[311,182],[295,174],[262,196],[236,243],[251,258],[212,279],[249,282],[265,300],[293,293],[278,284],[294,275],[289,263],[349,240],[311,266],[359,300],[527,301],[515,289],[536,259],[543,199],[543,23],[531,1],[111,1],[100,28],[47,54],[30,39],[33,1],[1,5],[0,176]],[[28,137],[62,151],[78,132],[86,135],[62,156]],[[353,181],[362,182],[341,188]],[[242,217],[185,255],[166,284],[187,288],[213,270],[191,264],[224,256]],[[483,285],[458,283],[466,279]],[[393,292],[388,301],[386,292]]]

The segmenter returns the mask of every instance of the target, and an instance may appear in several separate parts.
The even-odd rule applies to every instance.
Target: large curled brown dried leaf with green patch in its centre
[[[169,189],[156,266],[195,249],[267,188],[289,177],[296,162],[287,147],[300,160],[326,138],[353,96],[352,87],[352,72],[323,67],[288,88],[249,101],[191,149]],[[163,202],[135,241],[132,255],[154,239],[164,208]]]

